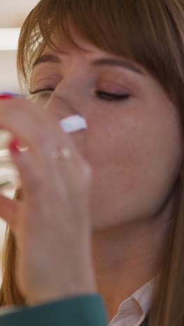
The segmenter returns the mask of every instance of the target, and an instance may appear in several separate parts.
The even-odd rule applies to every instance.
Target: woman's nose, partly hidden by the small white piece
[[[47,111],[49,115],[53,116],[54,119],[56,119],[56,122],[59,123],[59,125],[62,125],[61,120],[66,119],[70,116],[82,117],[79,111],[68,103],[68,100],[63,98],[60,94],[56,93],[55,91],[50,96],[45,106],[45,111]],[[70,139],[72,139],[72,141],[75,143],[75,146],[77,146],[79,153],[84,157],[84,159],[87,153],[86,134],[86,128],[68,133],[68,137],[70,137]]]

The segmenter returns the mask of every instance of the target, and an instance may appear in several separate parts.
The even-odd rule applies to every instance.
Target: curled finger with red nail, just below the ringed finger
[[[36,209],[38,212],[41,206],[45,209],[45,205],[48,204],[50,197],[53,197],[54,194],[54,197],[60,196],[60,203],[62,200],[66,201],[66,189],[62,173],[57,173],[56,178],[54,178],[53,166],[52,170],[47,170],[42,162],[36,160],[29,149],[20,152],[15,140],[10,142],[8,148],[20,173],[24,200],[31,205],[32,210]]]

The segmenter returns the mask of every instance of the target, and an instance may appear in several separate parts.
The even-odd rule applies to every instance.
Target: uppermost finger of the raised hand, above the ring
[[[26,143],[36,155],[45,157],[59,143],[61,147],[69,147],[75,157],[80,157],[73,141],[61,130],[59,123],[51,119],[47,112],[43,114],[38,104],[28,100],[15,98],[1,100],[0,127],[13,133],[17,139]],[[56,139],[58,142],[56,143]],[[53,147],[54,146],[54,147]]]

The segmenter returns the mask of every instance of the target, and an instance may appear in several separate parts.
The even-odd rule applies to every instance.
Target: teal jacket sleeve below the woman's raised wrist
[[[107,313],[100,295],[80,295],[41,304],[18,307],[0,316],[1,326],[107,326]]]

